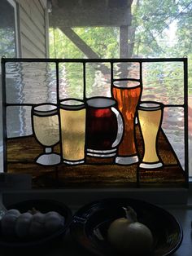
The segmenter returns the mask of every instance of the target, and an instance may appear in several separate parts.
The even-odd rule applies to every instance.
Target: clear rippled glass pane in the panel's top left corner
[[[7,63],[7,103],[56,103],[54,63]]]

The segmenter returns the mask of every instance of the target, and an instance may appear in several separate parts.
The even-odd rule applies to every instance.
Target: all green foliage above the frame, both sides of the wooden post
[[[132,57],[189,58],[192,94],[192,2],[190,0],[136,0],[132,4],[128,46]],[[170,38],[171,25],[175,33]],[[119,28],[86,27],[73,31],[100,58],[119,57]],[[50,29],[50,57],[87,58],[59,29]]]

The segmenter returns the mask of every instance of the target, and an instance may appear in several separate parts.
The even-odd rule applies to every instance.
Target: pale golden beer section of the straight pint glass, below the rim
[[[79,161],[85,158],[85,108],[60,109],[63,159]]]

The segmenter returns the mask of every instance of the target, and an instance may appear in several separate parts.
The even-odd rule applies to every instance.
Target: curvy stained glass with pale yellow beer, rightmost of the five
[[[139,167],[154,169],[163,166],[157,150],[157,139],[163,118],[164,105],[157,102],[142,102],[138,107],[138,119],[144,142],[144,156]]]

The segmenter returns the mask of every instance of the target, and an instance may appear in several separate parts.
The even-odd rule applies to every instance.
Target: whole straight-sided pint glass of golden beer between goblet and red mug
[[[80,99],[60,102],[60,129],[63,162],[80,165],[85,162],[85,104]]]

